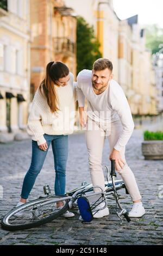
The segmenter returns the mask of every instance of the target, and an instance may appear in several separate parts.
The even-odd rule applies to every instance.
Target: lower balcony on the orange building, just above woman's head
[[[68,38],[54,38],[55,54],[64,54],[64,56],[73,56],[76,52],[76,44]]]

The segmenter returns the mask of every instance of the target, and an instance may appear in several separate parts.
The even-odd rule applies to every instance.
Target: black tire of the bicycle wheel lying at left
[[[62,198],[65,198],[65,199],[63,200]],[[40,225],[51,222],[51,221],[55,220],[56,218],[58,218],[59,216],[61,216],[62,214],[64,214],[68,210],[69,200],[70,200],[70,198],[68,198],[68,197],[66,198],[65,196],[49,196],[49,197],[43,198],[43,199],[32,200],[32,201],[30,201],[26,204],[23,204],[23,205],[19,206],[18,208],[15,208],[15,209],[12,209],[11,211],[9,211],[2,218],[1,227],[5,230],[9,230],[9,231],[23,230],[23,229],[30,229],[30,228],[39,227]],[[16,224],[16,223],[11,224],[11,223],[9,223],[10,218],[15,217],[14,214],[17,214],[18,212],[21,212],[23,210],[27,210],[27,208],[30,209],[31,207],[33,207],[35,205],[39,205],[39,204],[40,204],[39,206],[42,206],[42,205],[46,206],[50,203],[55,204],[56,202],[61,202],[61,201],[62,202],[64,201],[64,206],[59,208],[59,210],[57,212],[53,212],[54,210],[52,210],[52,214],[50,214],[49,216],[43,216],[43,215],[45,215],[45,213],[43,212],[42,213],[42,218],[41,219],[39,218],[38,220],[35,220],[34,222],[24,223],[24,224]],[[31,212],[30,212],[30,214],[31,214]],[[30,217],[30,220],[32,220],[31,217]],[[23,220],[23,221],[25,221],[25,220]]]

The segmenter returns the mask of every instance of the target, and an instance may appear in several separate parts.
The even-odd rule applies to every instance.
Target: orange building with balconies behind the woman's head
[[[30,0],[32,96],[48,62],[64,62],[76,76],[76,24],[73,9],[64,1]]]

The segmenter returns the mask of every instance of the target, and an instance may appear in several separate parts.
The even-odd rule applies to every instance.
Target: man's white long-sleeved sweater
[[[91,119],[103,123],[121,120],[123,131],[114,147],[121,151],[134,130],[130,107],[121,86],[115,80],[111,80],[108,88],[96,95],[92,87],[92,71],[84,69],[77,76],[77,97],[79,107],[84,107],[86,97],[87,115]]]

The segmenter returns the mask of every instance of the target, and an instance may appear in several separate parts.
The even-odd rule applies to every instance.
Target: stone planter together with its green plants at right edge
[[[163,159],[163,132],[144,131],[144,142],[142,142],[142,154],[146,160]]]

